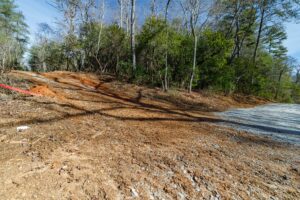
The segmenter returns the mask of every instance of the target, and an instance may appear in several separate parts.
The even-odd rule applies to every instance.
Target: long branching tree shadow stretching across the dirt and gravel
[[[57,83],[60,83],[59,79],[56,80]],[[66,84],[66,83],[62,83]],[[111,104],[111,107],[108,108],[101,108],[101,109],[86,109],[82,106],[78,106],[72,103],[61,103],[61,102],[40,102],[35,98],[27,99],[29,101],[33,101],[37,104],[42,105],[55,105],[58,106],[58,109],[55,109],[54,107],[46,107],[46,109],[55,110],[56,112],[61,113],[60,116],[54,116],[54,117],[48,117],[48,118],[32,118],[27,119],[19,122],[9,122],[9,123],[2,123],[0,124],[0,128],[6,128],[6,127],[12,127],[12,126],[19,126],[19,125],[33,125],[33,124],[46,124],[46,123],[53,123],[61,120],[66,119],[72,119],[77,117],[84,117],[88,115],[100,115],[108,118],[114,118],[116,120],[121,121],[138,121],[138,122],[188,122],[188,123],[225,123],[233,126],[243,126],[248,128],[255,128],[263,131],[270,131],[270,132],[279,132],[284,134],[296,134],[300,135],[300,131],[290,131],[286,129],[274,129],[272,127],[268,126],[259,126],[259,125],[251,125],[251,124],[245,124],[241,122],[231,121],[228,119],[221,119],[216,117],[209,117],[209,116],[194,116],[187,112],[182,112],[182,109],[177,105],[176,103],[172,103],[173,106],[175,105],[174,109],[163,107],[161,105],[151,104],[151,103],[145,103],[142,101],[143,94],[142,90],[139,90],[137,92],[137,95],[135,98],[126,97],[122,94],[117,94],[116,92],[112,90],[108,90],[107,88],[103,89],[101,86],[99,86],[97,89],[86,89],[85,87],[80,87],[78,85],[73,85],[70,83],[72,87],[76,87],[76,90],[83,91],[85,93],[89,93],[93,96],[92,99],[85,99],[83,101],[93,103],[95,102],[94,98],[102,98],[105,97],[105,102],[108,104]],[[68,87],[64,87],[68,88]],[[73,98],[74,100],[75,98]],[[72,98],[70,98],[72,100]],[[80,98],[77,98],[76,101],[81,101]],[[101,103],[101,101],[96,101],[96,103]],[[67,111],[64,111],[64,108],[72,109],[76,111],[75,113],[69,113]],[[161,115],[159,117],[154,116],[147,116],[147,117],[139,117],[139,116],[124,116],[120,114],[118,111],[122,109],[131,109],[131,110],[143,110],[145,112],[151,113],[162,113],[164,115]],[[110,111],[117,111],[114,112],[114,114],[108,113]],[[245,142],[249,142],[249,140],[242,140]],[[273,143],[272,143],[273,144]]]

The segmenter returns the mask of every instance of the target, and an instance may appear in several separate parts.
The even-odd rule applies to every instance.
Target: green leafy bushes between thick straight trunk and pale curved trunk
[[[137,36],[138,82],[160,86],[168,57],[168,80],[185,86],[191,72],[192,37],[177,32],[163,19],[151,17]]]

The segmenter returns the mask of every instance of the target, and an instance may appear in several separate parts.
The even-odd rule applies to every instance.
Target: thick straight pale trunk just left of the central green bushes
[[[131,53],[132,53],[132,77],[136,72],[136,52],[135,52],[135,0],[131,0],[131,17],[130,17],[130,38],[131,38]]]

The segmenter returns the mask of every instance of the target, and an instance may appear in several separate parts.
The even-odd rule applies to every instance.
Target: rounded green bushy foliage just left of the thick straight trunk
[[[87,24],[81,32],[81,39],[92,71],[122,72],[129,54],[128,37],[116,24],[104,26]]]

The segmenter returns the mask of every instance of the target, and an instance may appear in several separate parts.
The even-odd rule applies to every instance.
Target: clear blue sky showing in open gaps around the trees
[[[30,43],[34,42],[39,23],[46,22],[53,25],[56,19],[59,18],[56,9],[47,3],[49,1],[51,0],[15,0],[19,9],[25,15],[26,23],[29,26],[31,33]],[[113,6],[113,1],[110,0],[110,7]],[[115,0],[115,2],[117,1]],[[288,54],[300,62],[300,24],[288,23],[286,24],[286,29],[288,39],[284,44],[288,48]]]

